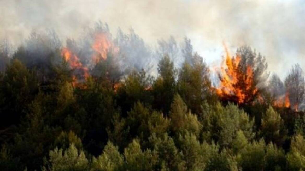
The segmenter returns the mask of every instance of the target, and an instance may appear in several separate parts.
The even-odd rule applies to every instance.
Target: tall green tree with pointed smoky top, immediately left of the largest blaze
[[[182,54],[185,62],[178,75],[178,93],[192,112],[198,114],[203,100],[212,97],[209,68],[201,56],[193,53],[187,38]]]

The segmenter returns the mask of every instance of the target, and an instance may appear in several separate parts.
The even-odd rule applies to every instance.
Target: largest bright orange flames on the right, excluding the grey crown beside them
[[[221,84],[216,92],[221,98],[231,99],[239,104],[247,103],[258,93],[254,84],[253,69],[250,65],[243,69],[240,65],[241,57],[231,57],[227,47],[225,53],[221,73],[218,73]]]

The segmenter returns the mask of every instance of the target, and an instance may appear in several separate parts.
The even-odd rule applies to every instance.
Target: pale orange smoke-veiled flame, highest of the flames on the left
[[[118,48],[112,44],[105,33],[95,34],[92,49],[97,53],[92,57],[92,60],[95,63],[98,63],[102,59],[106,60],[108,52],[116,53],[118,51]]]

